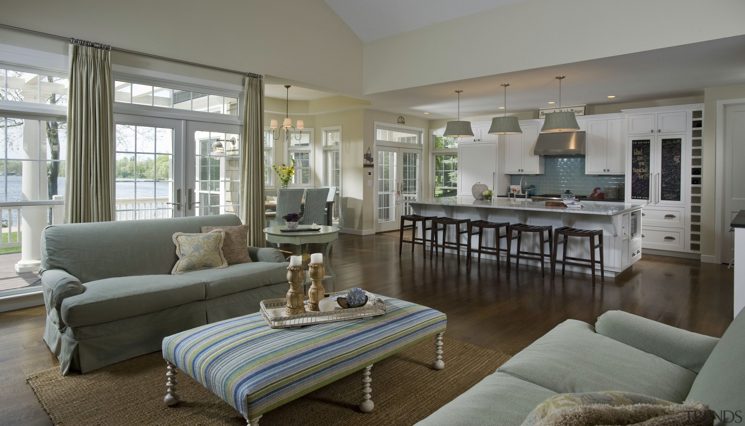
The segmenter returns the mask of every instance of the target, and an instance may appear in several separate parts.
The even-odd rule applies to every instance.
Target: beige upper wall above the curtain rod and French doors
[[[4,1],[2,10],[2,22],[17,27],[341,91],[362,89],[362,42],[323,0],[39,0],[33,7]],[[66,46],[42,47],[52,43],[66,45],[47,41],[37,48],[66,54]],[[333,57],[340,60],[329,66]],[[142,57],[131,61],[156,67]]]

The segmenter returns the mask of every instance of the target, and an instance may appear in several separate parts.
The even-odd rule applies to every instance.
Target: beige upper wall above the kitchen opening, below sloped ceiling
[[[518,1],[364,43],[364,93],[737,36],[743,16],[741,0]]]

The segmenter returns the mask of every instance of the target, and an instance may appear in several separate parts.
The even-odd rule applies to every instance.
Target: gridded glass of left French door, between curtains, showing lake
[[[116,220],[171,217],[174,130],[116,125]]]

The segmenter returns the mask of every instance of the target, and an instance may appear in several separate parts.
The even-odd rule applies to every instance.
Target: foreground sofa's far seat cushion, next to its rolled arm
[[[682,402],[696,373],[567,319],[498,371],[557,393],[624,390]],[[527,415],[527,413],[526,413]]]

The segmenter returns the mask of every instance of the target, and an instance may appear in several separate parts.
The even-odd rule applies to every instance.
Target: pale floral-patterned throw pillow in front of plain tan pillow
[[[212,229],[211,232],[204,234],[176,232],[173,239],[179,260],[171,274],[228,267],[222,250],[225,239],[225,232],[222,229]]]

